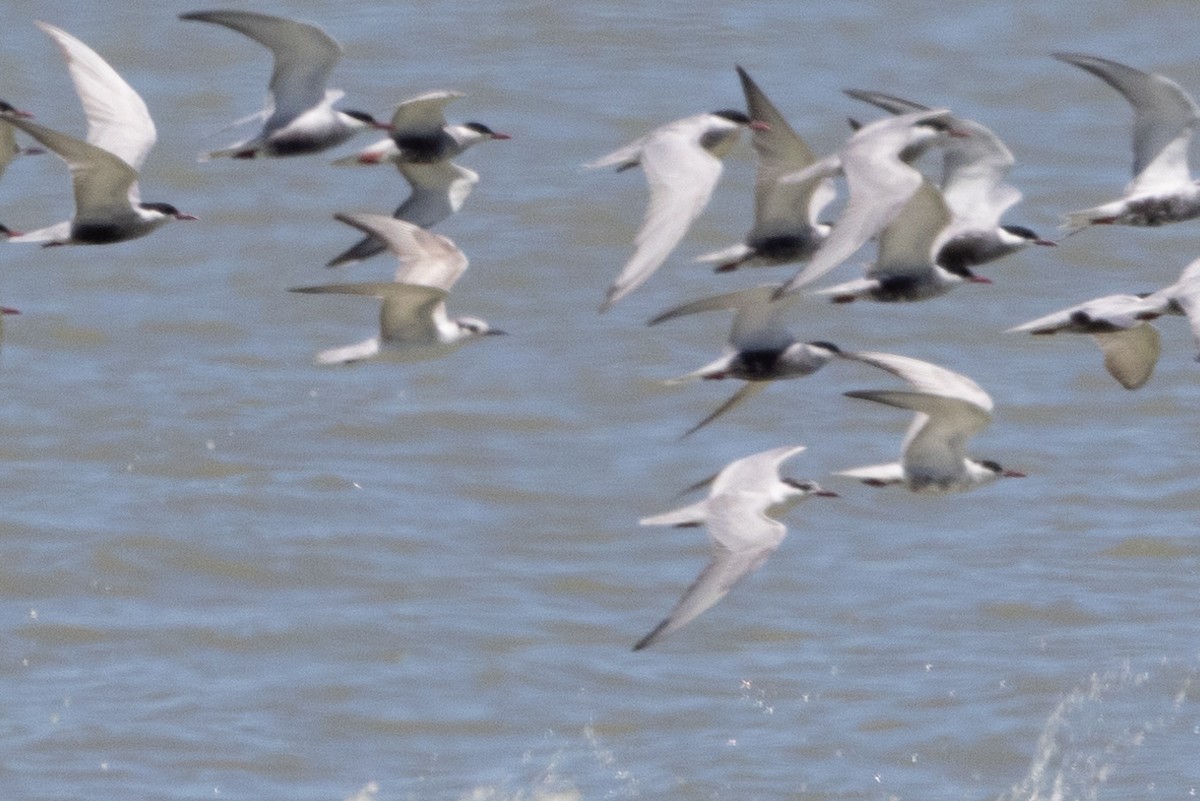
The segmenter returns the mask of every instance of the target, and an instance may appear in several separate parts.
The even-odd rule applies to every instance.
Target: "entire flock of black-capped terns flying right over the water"
[[[485,320],[451,318],[446,297],[467,269],[452,241],[427,230],[458,211],[479,181],[454,163],[466,149],[508,139],[479,122],[451,125],[445,107],[460,97],[431,91],[398,104],[389,122],[341,110],[342,92],[326,88],[342,48],[320,29],[292,19],[247,11],[203,11],[184,20],[222,25],[274,54],[265,109],[242,120],[260,130],[248,139],[202,155],[206,158],[264,158],[320,153],[356,133],[377,128],[386,137],[337,164],[394,164],[410,187],[408,198],[386,215],[335,215],[358,229],[360,241],[329,266],[350,264],[384,251],[398,260],[391,281],[300,287],[293,291],[350,294],[382,300],[379,332],[361,343],[317,354],[317,362],[342,365],[366,359],[412,361],[448,355],[456,348],[503,333]],[[194,219],[168,203],[140,199],[138,170],[156,140],[142,97],[98,54],[66,31],[37,23],[61,49],[88,119],[85,139],[53,131],[32,115],[0,103],[0,174],[20,153],[38,152],[17,143],[29,135],[62,158],[71,170],[71,219],[18,233],[0,225],[8,242],[106,245],[145,236],[172,219]],[[1133,107],[1133,180],[1110,203],[1067,215],[1074,233],[1094,224],[1159,225],[1200,216],[1200,182],[1193,181],[1187,151],[1200,108],[1174,80],[1105,59],[1060,53],[1055,58],[1085,70],[1116,89]],[[706,254],[718,272],[750,266],[805,263],[791,279],[738,289],[671,308],[650,320],[732,311],[728,343],[719,359],[674,379],[733,378],[744,381],[728,401],[686,432],[710,423],[767,384],[809,375],[834,360],[882,369],[907,384],[904,390],[847,392],[852,398],[914,414],[898,462],[846,470],[872,486],[902,484],[913,492],[960,492],[1000,477],[1022,474],[967,456],[970,439],[991,420],[992,401],[974,381],[943,367],[894,354],[846,351],[829,342],[802,342],[784,323],[802,291],[841,265],[871,240],[877,255],[862,278],[811,294],[835,303],[923,301],[955,287],[986,283],[973,271],[1030,245],[1052,246],[1028,228],[1002,224],[1021,193],[1006,183],[1013,155],[979,122],[947,109],[920,106],[880,92],[847,94],[888,113],[852,121],[853,133],[833,155],[817,158],[750,76],[737,68],[746,109],[698,114],[665,125],[599,158],[588,167],[618,171],[641,167],[649,204],[634,253],[600,307],[607,311],[647,282],[704,210],[721,175],[721,157],[750,131],[758,156],[755,222],[744,241]],[[938,149],[938,181],[912,163]],[[822,212],[835,198],[836,179],[846,201],[832,222]],[[1159,355],[1151,320],[1187,315],[1200,342],[1200,260],[1174,284],[1158,291],[1109,295],[1012,329],[1034,335],[1091,335],[1111,375],[1127,389],[1145,384]],[[4,313],[16,309],[4,308]],[[685,435],[686,435],[685,434]],[[779,547],[786,529],[778,520],[810,496],[834,493],[811,481],[780,476],[780,466],[804,450],[779,447],[728,464],[691,489],[708,487],[706,499],[647,517],[646,525],[707,526],[712,559],[658,627],[634,648],[646,648],[716,603]]]

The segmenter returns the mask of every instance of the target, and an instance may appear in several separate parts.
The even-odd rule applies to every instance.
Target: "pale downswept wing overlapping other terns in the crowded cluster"
[[[906,132],[917,122],[949,116],[949,112],[916,112],[876,120],[859,128],[840,153],[850,197],[828,239],[812,255],[808,266],[792,277],[778,294],[798,291],[854,254],[872,236],[882,231],[924,180],[917,170],[898,157],[908,138]],[[812,170],[822,164],[808,168]],[[802,179],[804,174],[788,180]]]

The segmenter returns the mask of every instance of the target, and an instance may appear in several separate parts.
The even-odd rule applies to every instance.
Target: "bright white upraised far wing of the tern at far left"
[[[66,58],[67,71],[88,116],[88,143],[115,155],[134,173],[142,169],[157,139],[142,96],[74,36],[48,23],[38,22],[37,26],[54,40]]]

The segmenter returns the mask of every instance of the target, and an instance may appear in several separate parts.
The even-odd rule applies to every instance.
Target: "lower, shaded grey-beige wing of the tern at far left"
[[[138,173],[124,158],[24,118],[8,115],[4,119],[53,150],[71,168],[76,217],[128,211],[131,198],[137,197]],[[40,241],[34,234],[41,233],[32,231],[26,235],[28,239],[13,237],[13,241]]]

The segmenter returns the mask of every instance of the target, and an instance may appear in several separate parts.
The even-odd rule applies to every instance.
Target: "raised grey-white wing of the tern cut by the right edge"
[[[1121,92],[1133,107],[1133,181],[1128,194],[1190,181],[1188,144],[1200,119],[1192,96],[1165,76],[1081,53],[1055,53]]]

